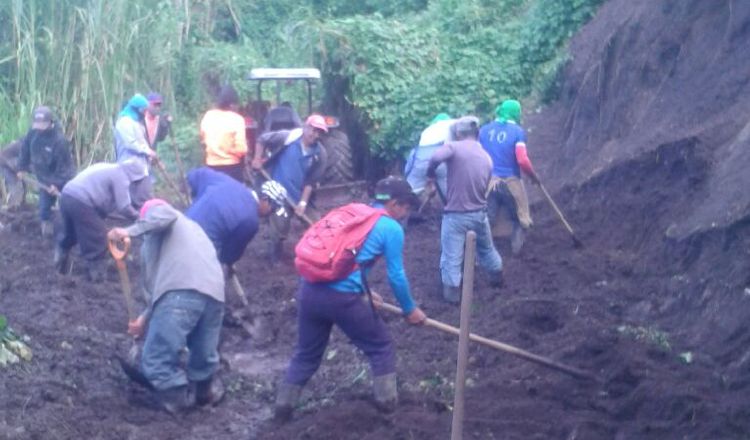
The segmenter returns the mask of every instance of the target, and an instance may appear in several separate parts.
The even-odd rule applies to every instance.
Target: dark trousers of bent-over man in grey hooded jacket
[[[60,197],[62,236],[58,244],[68,250],[79,244],[87,261],[102,258],[107,252],[107,226],[96,209],[67,195]]]

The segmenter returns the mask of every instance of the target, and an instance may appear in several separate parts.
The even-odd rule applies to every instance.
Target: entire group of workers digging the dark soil
[[[6,157],[18,157],[17,173],[4,175],[6,184],[23,178],[24,173],[36,178],[45,234],[50,230],[50,207],[59,196],[62,227],[56,237],[54,264],[62,274],[70,271],[70,250],[79,244],[87,276],[102,280],[108,242],[142,237],[140,273],[148,305],[128,323],[128,333],[144,336],[138,368],[163,408],[179,413],[221,399],[216,371],[225,280],[257,234],[261,217],[269,217],[267,257],[278,260],[291,218],[305,214],[325,170],[326,152],[320,138],[328,127],[322,116],[313,114],[302,127],[259,136],[248,154],[237,93],[231,86],[222,88],[216,108],[200,124],[206,164],[186,176],[192,204],[182,213],[152,194],[150,167],[158,161],[156,143],[170,129],[170,118],[160,116],[161,101],[156,93],[134,95],[114,124],[116,162],[91,165],[75,176],[68,141],[50,109],[39,107],[31,129],[13,147],[18,152]],[[373,313],[373,302],[363,297],[368,293],[375,304],[382,301],[369,291],[366,281],[370,263],[382,257],[405,320],[414,325],[425,321],[404,270],[400,223],[420,205],[420,193],[427,197],[436,188],[444,199],[443,298],[460,302],[460,269],[469,230],[477,233],[478,262],[490,272],[493,286],[502,285],[502,259],[493,243],[488,210],[492,216],[500,203],[495,199],[509,193],[519,229],[528,229],[531,218],[520,173],[538,180],[525,150],[520,104],[503,102],[497,120],[481,127],[473,116],[438,115],[433,122],[407,163],[407,178],[391,176],[375,185],[372,206],[380,214],[366,231],[352,271],[325,282],[300,280],[298,339],[277,387],[279,419],[291,417],[302,388],[320,366],[333,325],[367,356],[376,406],[383,411],[395,409],[393,338],[382,318]],[[6,171],[13,166],[5,159],[0,165]],[[250,169],[265,176],[257,192],[245,183]],[[501,194],[503,188],[507,190]],[[105,220],[112,216],[134,222],[108,229]],[[183,369],[180,355],[185,347],[189,358]]]

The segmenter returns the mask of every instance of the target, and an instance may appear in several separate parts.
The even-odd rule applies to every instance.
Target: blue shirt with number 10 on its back
[[[514,122],[492,121],[479,130],[479,143],[492,158],[492,175],[521,177],[516,144],[526,143],[526,133]]]

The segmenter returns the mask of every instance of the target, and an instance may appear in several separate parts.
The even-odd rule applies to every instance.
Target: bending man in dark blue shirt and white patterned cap
[[[228,270],[258,232],[258,216],[284,206],[286,192],[272,180],[263,184],[260,200],[245,185],[207,167],[191,170],[187,181],[193,204],[185,215],[203,228]]]

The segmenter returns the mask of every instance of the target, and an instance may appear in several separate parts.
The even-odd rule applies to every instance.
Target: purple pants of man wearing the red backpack
[[[297,347],[284,382],[305,385],[323,358],[336,324],[370,361],[373,376],[396,372],[396,353],[388,327],[361,294],[302,281],[297,291]]]

